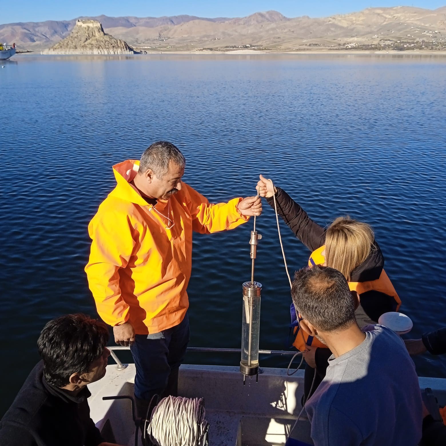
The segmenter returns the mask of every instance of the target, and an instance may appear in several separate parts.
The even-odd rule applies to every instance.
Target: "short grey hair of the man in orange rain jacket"
[[[157,141],[145,149],[140,160],[139,173],[142,175],[148,169],[152,169],[153,173],[160,180],[169,170],[169,162],[184,167],[186,159],[180,152],[178,147],[167,141]]]

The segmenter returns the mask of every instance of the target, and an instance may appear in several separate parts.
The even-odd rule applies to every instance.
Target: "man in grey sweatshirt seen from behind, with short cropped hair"
[[[297,271],[291,291],[300,326],[333,352],[306,402],[316,446],[415,446],[422,403],[415,366],[392,330],[355,319],[359,297],[339,271]]]

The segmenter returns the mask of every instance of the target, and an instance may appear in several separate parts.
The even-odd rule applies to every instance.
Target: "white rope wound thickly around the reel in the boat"
[[[209,424],[202,398],[167,396],[153,409],[149,440],[156,446],[204,446]]]

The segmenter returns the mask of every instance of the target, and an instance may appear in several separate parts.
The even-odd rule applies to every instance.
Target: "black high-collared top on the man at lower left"
[[[39,362],[0,421],[1,446],[97,446],[87,387],[77,395],[48,384]]]

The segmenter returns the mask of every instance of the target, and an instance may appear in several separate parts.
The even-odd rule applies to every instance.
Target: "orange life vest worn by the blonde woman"
[[[324,250],[325,245],[322,245],[320,248],[314,250],[308,259],[308,266],[323,265],[325,263],[325,256],[322,254]],[[350,291],[356,291],[359,296],[362,293],[366,293],[367,291],[371,290],[392,296],[396,301],[396,311],[398,311],[401,306],[401,299],[396,293],[395,288],[393,287],[392,282],[388,278],[384,269],[381,271],[380,277],[376,280],[365,282],[348,282],[348,286]],[[293,342],[293,346],[296,347],[297,350],[305,350],[305,344],[313,347],[327,347],[317,338],[313,338],[313,336],[307,335],[304,330],[300,330],[298,326],[294,328],[294,334],[296,335],[296,339]]]

